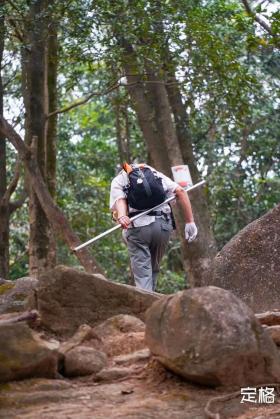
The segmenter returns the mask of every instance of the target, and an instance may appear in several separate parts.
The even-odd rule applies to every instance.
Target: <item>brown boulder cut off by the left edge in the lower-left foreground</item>
[[[0,326],[0,382],[30,377],[54,378],[58,353],[25,323]]]

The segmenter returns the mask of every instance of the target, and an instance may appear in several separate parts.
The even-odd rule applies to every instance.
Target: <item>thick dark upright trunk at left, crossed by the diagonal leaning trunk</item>
[[[47,6],[47,0],[36,0],[31,3],[25,34],[29,45],[29,52],[25,54],[26,141],[30,144],[33,136],[38,139],[37,161],[44,179],[47,178]],[[29,271],[31,275],[38,276],[41,271],[55,265],[55,252],[48,219],[35,191],[30,188],[29,192]]]

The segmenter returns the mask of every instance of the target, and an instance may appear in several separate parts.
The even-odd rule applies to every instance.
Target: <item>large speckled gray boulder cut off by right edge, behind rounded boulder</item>
[[[280,205],[241,230],[214,259],[211,285],[255,312],[280,307]]]

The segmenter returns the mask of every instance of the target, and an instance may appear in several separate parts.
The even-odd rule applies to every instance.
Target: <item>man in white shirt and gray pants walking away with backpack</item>
[[[166,250],[173,214],[169,204],[131,222],[130,217],[161,204],[176,195],[184,213],[185,237],[197,236],[191,203],[184,189],[169,177],[146,164],[123,164],[123,170],[112,180],[110,209],[123,228],[136,287],[155,291],[159,264]]]

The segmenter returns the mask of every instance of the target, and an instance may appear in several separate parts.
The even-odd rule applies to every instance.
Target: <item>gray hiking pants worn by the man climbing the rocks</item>
[[[136,287],[155,291],[159,264],[172,231],[170,215],[155,217],[155,222],[129,228],[125,233]]]

